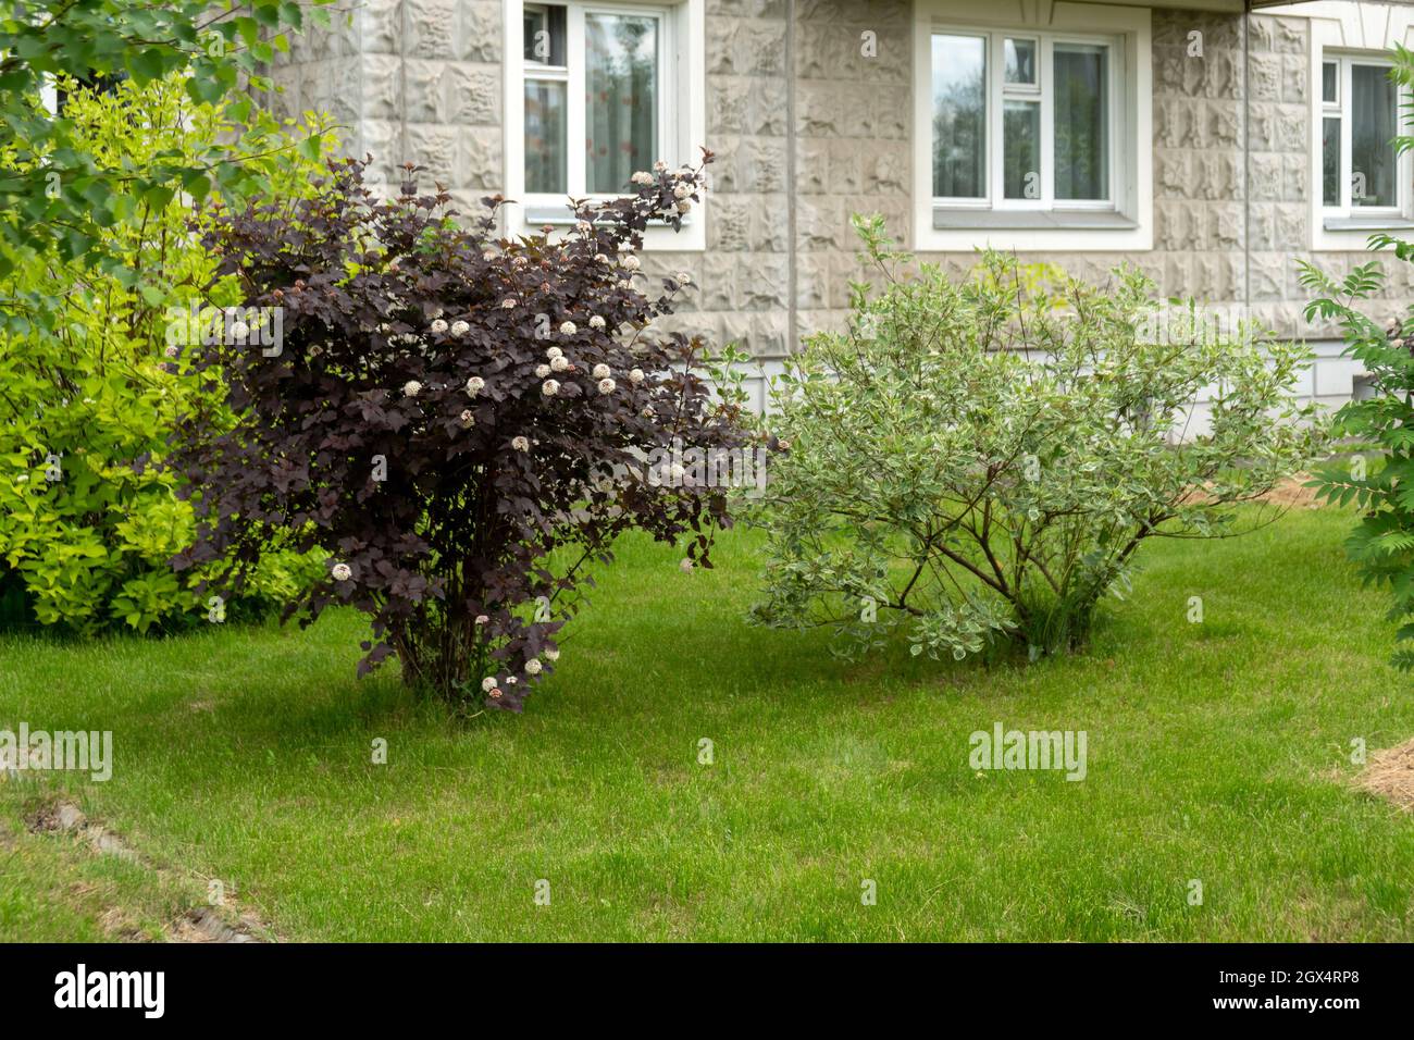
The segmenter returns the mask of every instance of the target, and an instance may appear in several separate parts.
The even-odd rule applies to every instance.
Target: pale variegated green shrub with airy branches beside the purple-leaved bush
[[[1236,533],[1230,507],[1322,441],[1291,396],[1302,351],[1192,306],[1155,323],[1135,270],[1092,286],[987,253],[959,283],[905,277],[882,221],[855,225],[882,291],[857,284],[848,333],[807,340],[775,388],[759,621],[829,625],[843,652],[896,624],[935,657],[1077,648],[1144,539]]]

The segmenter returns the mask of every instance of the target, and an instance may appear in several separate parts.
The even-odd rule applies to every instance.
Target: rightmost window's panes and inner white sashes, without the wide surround
[[[1321,204],[1326,216],[1398,216],[1408,204],[1394,149],[1398,92],[1390,65],[1329,57],[1321,62]]]

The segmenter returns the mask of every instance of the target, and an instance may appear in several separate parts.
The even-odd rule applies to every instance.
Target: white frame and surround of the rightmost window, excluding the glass
[[[1370,235],[1377,231],[1403,232],[1414,228],[1414,157],[1398,156],[1396,177],[1397,207],[1350,207],[1350,116],[1343,108],[1350,98],[1350,64],[1389,65],[1387,51],[1394,44],[1414,45],[1414,10],[1400,4],[1379,6],[1321,0],[1267,8],[1271,14],[1309,18],[1311,33],[1311,180],[1309,226],[1311,249],[1366,252]],[[1372,17],[1374,16],[1374,17]],[[1336,105],[1322,100],[1321,76],[1326,61],[1339,61]],[[1403,102],[1401,102],[1403,105]],[[1324,156],[1321,154],[1322,120],[1340,116],[1340,207],[1326,207],[1324,192]],[[1404,119],[1406,109],[1400,108]],[[1401,126],[1401,133],[1411,133]]]

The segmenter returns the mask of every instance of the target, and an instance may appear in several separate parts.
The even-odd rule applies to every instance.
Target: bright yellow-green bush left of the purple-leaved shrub
[[[105,173],[180,166],[225,140],[232,161],[290,194],[308,190],[315,167],[294,141],[328,143],[320,123],[293,136],[269,117],[233,123],[230,106],[194,103],[180,75],[124,81],[113,93],[61,85],[74,147]],[[150,463],[198,393],[164,357],[171,311],[232,303],[236,291],[214,283],[198,239],[205,216],[194,226],[181,184],[158,184],[163,192],[133,202],[132,221],[98,232],[102,253],[137,279],[69,259],[58,243],[0,279],[16,296],[64,287],[52,330],[0,330],[0,603],[11,623],[148,631],[208,614],[197,579],[168,563],[194,535],[191,507]],[[286,601],[301,573],[296,557],[271,559],[232,610]]]

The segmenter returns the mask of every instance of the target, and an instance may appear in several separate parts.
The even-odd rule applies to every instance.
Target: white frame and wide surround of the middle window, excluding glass
[[[932,45],[935,34],[986,35],[987,195],[935,198]],[[1036,86],[1005,83],[1005,40],[1038,42]],[[1154,245],[1152,40],[1147,8],[1100,4],[1017,4],[988,0],[916,0],[913,61],[915,242],[919,250],[998,249],[1145,250]],[[1055,200],[1053,48],[1058,42],[1110,48],[1110,198]],[[1001,127],[1004,102],[1041,102],[1041,197],[1004,198]],[[1039,219],[1019,218],[1025,212]],[[959,226],[935,226],[959,214]],[[967,216],[971,219],[967,219]],[[1113,215],[1110,219],[1107,215]]]

